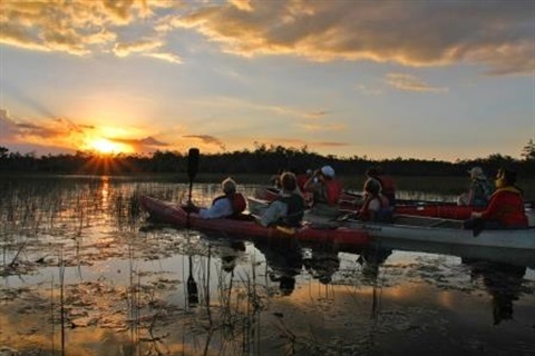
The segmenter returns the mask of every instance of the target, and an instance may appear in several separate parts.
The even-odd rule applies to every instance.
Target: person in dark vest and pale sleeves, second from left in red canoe
[[[262,226],[299,227],[304,214],[304,199],[299,190],[295,175],[283,172],[280,178],[282,191],[262,212],[259,222]]]

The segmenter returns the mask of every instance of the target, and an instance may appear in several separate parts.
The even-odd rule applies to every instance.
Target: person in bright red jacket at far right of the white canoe
[[[516,171],[499,169],[495,185],[496,191],[490,196],[487,208],[471,212],[471,218],[464,222],[465,228],[474,229],[475,235],[486,228],[527,228],[523,191],[516,186]]]

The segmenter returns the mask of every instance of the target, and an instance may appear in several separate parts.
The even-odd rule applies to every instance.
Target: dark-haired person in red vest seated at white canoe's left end
[[[357,214],[363,221],[390,222],[393,209],[386,196],[381,194],[381,185],[376,179],[368,179],[364,184],[364,200]]]

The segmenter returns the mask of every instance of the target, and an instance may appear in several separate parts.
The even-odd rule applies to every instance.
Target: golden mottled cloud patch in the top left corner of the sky
[[[146,22],[160,8],[177,7],[173,1],[11,1],[2,2],[0,43],[29,50],[59,51],[74,56],[115,53],[117,57],[149,55],[181,63],[173,53],[154,51],[165,43]],[[128,30],[135,38],[128,40]],[[138,31],[146,34],[138,36]]]

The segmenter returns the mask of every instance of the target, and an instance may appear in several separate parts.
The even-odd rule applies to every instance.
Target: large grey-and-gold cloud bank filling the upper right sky
[[[409,67],[476,62],[494,75],[534,72],[533,1],[255,1],[250,7],[200,8],[173,23],[244,57]]]

